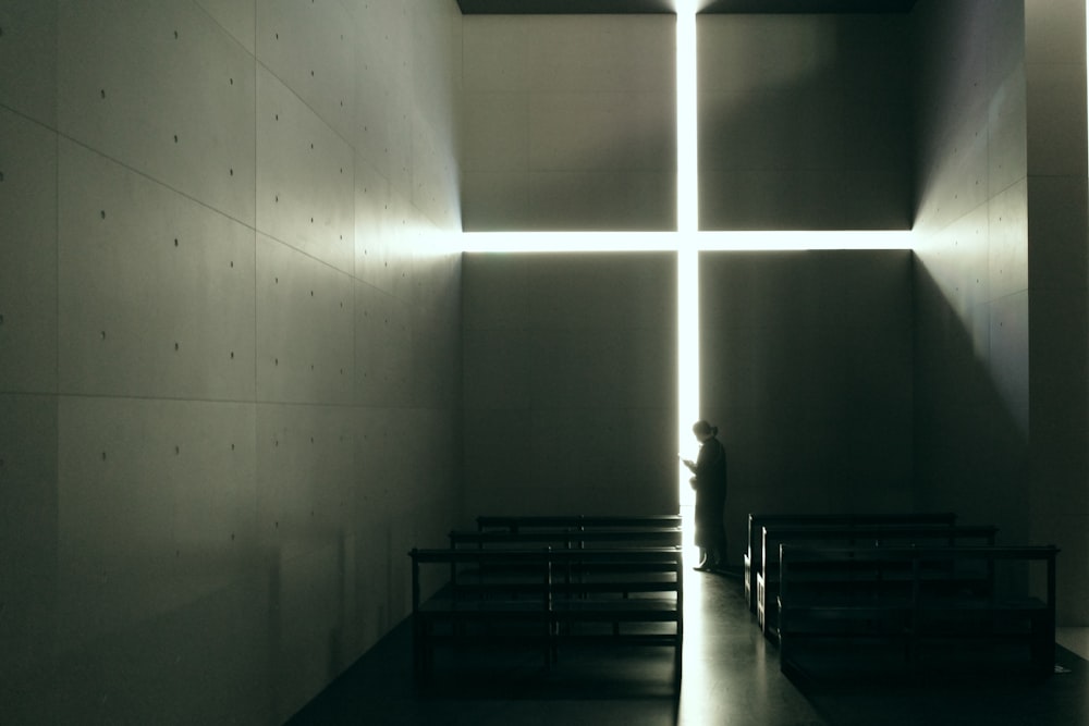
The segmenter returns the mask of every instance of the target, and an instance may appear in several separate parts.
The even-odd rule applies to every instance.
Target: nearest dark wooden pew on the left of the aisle
[[[413,550],[409,556],[418,678],[431,674],[441,645],[528,647],[540,651],[547,667],[567,645],[663,645],[674,649],[680,688],[680,547],[438,549]],[[429,565],[454,567],[463,576],[425,599],[421,568]],[[556,575],[570,570],[579,575],[577,587]]]

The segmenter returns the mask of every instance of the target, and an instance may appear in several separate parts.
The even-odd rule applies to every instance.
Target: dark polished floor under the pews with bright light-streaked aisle
[[[413,685],[407,623],[396,628],[291,726],[1068,726],[1089,723],[1089,663],[1056,647],[1061,673],[1047,679],[981,677],[819,685],[780,672],[778,648],[760,633],[737,577],[685,578],[683,681],[672,688],[664,651],[578,653],[544,673],[539,656],[452,654],[433,684]],[[1077,640],[1079,633],[1066,633]],[[497,664],[500,664],[497,667]]]

